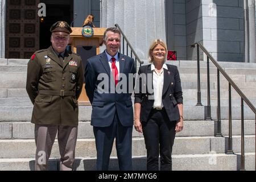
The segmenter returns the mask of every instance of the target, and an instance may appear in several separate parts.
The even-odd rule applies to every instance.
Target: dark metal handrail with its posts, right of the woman
[[[221,117],[220,117],[220,72],[229,82],[229,138],[228,138],[228,150],[226,154],[234,154],[232,150],[232,100],[231,100],[231,86],[236,90],[236,92],[241,96],[241,168],[240,170],[245,170],[245,133],[244,133],[244,112],[243,112],[243,101],[250,107],[250,109],[255,114],[255,138],[256,138],[256,109],[253,104],[248,100],[245,94],[238,88],[238,86],[233,82],[233,80],[228,76],[228,74],[222,69],[222,67],[217,63],[217,61],[210,55],[207,49],[201,43],[192,44],[191,47],[197,46],[197,105],[201,104],[201,91],[200,91],[200,60],[199,60],[199,47],[207,55],[207,94],[208,94],[208,106],[207,106],[207,117],[210,119],[210,86],[209,86],[209,59],[217,67],[217,93],[218,93],[218,104],[217,104],[217,129],[214,127],[214,136],[222,137],[221,134]],[[215,121],[214,121],[215,122]],[[215,124],[215,123],[214,123]],[[216,129],[216,131],[215,131]],[[255,141],[256,148],[256,141]],[[256,154],[256,150],[255,150]],[[256,171],[256,158],[255,158],[255,171]]]

